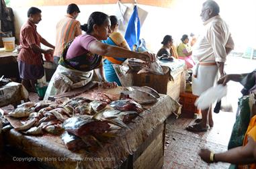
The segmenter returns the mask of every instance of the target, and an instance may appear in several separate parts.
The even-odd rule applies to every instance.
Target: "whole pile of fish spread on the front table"
[[[62,142],[71,151],[101,146],[105,137],[141,117],[142,105],[157,102],[159,94],[149,87],[127,87],[119,99],[95,92],[89,97],[63,97],[55,101],[27,102],[18,105],[9,117],[19,118],[19,124],[10,121],[17,130],[29,135],[50,133],[61,135]]]

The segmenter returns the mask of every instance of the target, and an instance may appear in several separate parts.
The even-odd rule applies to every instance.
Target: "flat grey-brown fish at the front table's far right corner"
[[[147,93],[145,91],[141,91],[140,89],[135,89],[134,91],[122,91],[120,95],[120,99],[133,99],[139,104],[149,104],[157,102],[157,98],[151,95],[151,93]]]

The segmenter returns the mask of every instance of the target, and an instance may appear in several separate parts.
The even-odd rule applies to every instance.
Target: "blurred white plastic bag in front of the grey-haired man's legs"
[[[202,93],[198,99],[196,99],[195,106],[198,109],[207,109],[215,101],[220,101],[222,97],[225,97],[228,92],[228,88],[222,84],[217,84],[215,87],[209,88]]]

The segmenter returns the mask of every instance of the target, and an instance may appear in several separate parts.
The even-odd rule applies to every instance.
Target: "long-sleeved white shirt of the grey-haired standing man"
[[[204,22],[204,32],[193,46],[193,57],[196,62],[225,62],[226,48],[234,48],[234,42],[228,25],[220,15]]]

